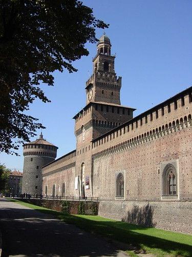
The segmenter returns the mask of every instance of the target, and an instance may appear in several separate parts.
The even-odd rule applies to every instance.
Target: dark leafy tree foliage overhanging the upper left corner
[[[50,102],[39,84],[53,86],[54,70],[77,71],[72,62],[106,27],[77,0],[0,0],[0,151],[17,154],[36,135],[42,124],[25,111],[35,98]]]

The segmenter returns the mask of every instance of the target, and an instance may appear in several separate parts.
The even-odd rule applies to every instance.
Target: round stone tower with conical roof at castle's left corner
[[[42,193],[42,167],[54,161],[57,146],[46,141],[42,133],[33,142],[24,145],[24,173],[22,193],[40,195]]]

